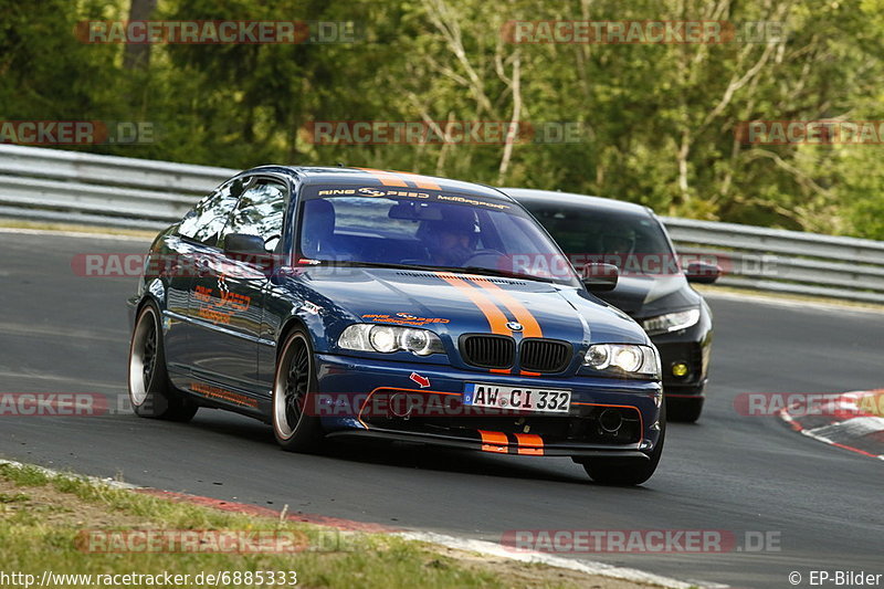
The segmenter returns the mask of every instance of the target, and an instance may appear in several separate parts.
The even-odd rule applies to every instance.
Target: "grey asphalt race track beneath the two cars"
[[[75,253],[147,244],[0,232],[0,391],[126,395],[124,301],[135,278],[75,276]],[[779,551],[577,555],[684,580],[790,587],[811,569],[884,572],[884,464],[743,417],[741,392],[884,385],[884,314],[711,297],[712,386],[697,424],[672,424],[643,487],[589,482],[567,459],[366,444],[280,451],[271,430],[202,410],[189,424],[131,414],[0,418],[0,456],[290,511],[497,541],[513,529],[770,532]],[[308,571],[305,571],[308,576]]]

